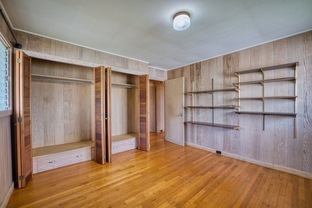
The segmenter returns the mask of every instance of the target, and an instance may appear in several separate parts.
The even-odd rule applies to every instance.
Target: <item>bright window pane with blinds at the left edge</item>
[[[0,41],[0,111],[10,109],[8,49]]]

